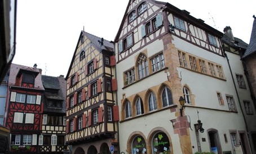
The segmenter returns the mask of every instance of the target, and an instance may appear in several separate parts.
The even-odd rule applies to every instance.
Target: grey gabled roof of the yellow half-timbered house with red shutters
[[[82,35],[85,35],[88,39],[90,39],[92,46],[94,46],[96,49],[98,49],[99,52],[101,52],[101,51],[110,51],[110,52],[114,51],[114,44],[112,42],[110,42],[108,40],[105,40],[104,38],[96,37],[95,35],[87,33],[83,30],[81,31],[80,37],[77,41],[76,49],[78,48],[78,44],[81,40]],[[70,69],[72,68],[72,63],[74,62],[74,58],[76,57],[76,49],[74,51],[72,60],[70,62],[68,73],[67,73],[67,76],[66,76],[65,80],[68,79]]]

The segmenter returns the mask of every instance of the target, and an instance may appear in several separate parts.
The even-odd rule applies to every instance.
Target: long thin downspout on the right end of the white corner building
[[[224,49],[223,49],[224,51]],[[246,122],[246,119],[245,119],[245,115],[244,115],[244,111],[242,110],[242,105],[241,105],[241,101],[240,101],[240,98],[239,98],[239,93],[237,92],[237,88],[236,88],[236,84],[235,84],[235,79],[233,77],[233,73],[232,73],[232,70],[231,70],[231,66],[229,64],[229,59],[228,59],[228,56],[227,56],[227,53],[224,51],[224,56],[227,58],[227,62],[228,62],[228,67],[229,67],[229,71],[231,73],[231,76],[232,76],[232,80],[233,80],[233,84],[234,84],[234,87],[235,87],[235,90],[236,90],[236,95],[237,95],[237,98],[238,98],[238,101],[239,101],[239,106],[241,108],[241,112],[242,112],[242,117],[245,121],[245,128],[246,128],[246,132],[247,132],[247,137],[249,135],[249,132],[248,132],[248,125],[247,125],[247,122]],[[249,140],[249,137],[248,137],[248,140]],[[250,151],[251,151],[251,144],[249,142],[249,146],[250,146]]]

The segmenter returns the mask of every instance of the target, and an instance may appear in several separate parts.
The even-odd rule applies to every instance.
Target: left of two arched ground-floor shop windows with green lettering
[[[131,144],[132,153],[145,153],[146,149],[147,147],[144,138],[141,135],[136,136]]]

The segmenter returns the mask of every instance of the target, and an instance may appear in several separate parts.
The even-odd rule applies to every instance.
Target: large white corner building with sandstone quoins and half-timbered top
[[[170,3],[128,2],[114,39],[120,153],[251,153],[222,37]]]

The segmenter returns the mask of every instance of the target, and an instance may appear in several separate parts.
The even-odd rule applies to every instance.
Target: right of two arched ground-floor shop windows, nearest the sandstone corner
[[[158,132],[152,139],[152,153],[171,153],[170,141],[164,132]]]

